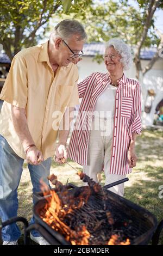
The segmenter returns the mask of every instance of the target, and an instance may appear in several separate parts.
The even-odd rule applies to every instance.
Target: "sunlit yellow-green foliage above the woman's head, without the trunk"
[[[149,1],[139,2],[146,2],[146,4],[144,3],[146,8],[142,9],[143,5],[140,8],[138,2],[137,8],[135,8],[129,4],[129,1],[94,1],[87,5],[85,10],[72,6],[67,15],[56,16],[54,14],[53,17],[58,20],[66,17],[80,20],[89,35],[88,42],[107,41],[112,37],[121,36],[124,41],[136,45],[147,19],[146,10]],[[154,19],[151,21],[143,46],[151,46],[158,42],[158,36],[153,27]]]

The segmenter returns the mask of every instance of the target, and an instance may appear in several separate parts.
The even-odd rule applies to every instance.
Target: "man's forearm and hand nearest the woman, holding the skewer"
[[[70,132],[70,124],[73,120],[73,107],[67,107],[63,118],[62,118],[62,130],[59,130],[59,141],[58,145],[55,149],[55,161],[58,163],[63,163],[62,159],[67,159],[67,152],[66,152],[66,142]]]

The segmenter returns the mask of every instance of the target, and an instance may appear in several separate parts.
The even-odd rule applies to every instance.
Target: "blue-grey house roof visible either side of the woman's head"
[[[133,49],[134,50],[134,49]],[[84,56],[95,56],[97,53],[103,55],[105,52],[105,45],[102,42],[92,42],[91,44],[85,44],[83,47]],[[152,59],[156,52],[155,47],[144,48],[141,50],[141,59]]]

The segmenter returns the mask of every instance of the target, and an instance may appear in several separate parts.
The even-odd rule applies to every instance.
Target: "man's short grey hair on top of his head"
[[[54,27],[50,40],[54,40],[55,38],[62,38],[65,41],[71,38],[72,35],[78,34],[78,40],[86,40],[87,34],[84,30],[83,25],[77,20],[63,20]]]

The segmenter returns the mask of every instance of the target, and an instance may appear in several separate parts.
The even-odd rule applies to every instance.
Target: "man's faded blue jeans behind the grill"
[[[17,156],[12,150],[7,140],[0,135],[0,217],[2,222],[9,220],[11,217],[17,216],[18,200],[17,200],[17,187],[19,185],[22,166],[24,159]],[[51,157],[42,162],[41,165],[34,166],[28,164],[30,172],[30,178],[33,185],[33,192],[40,191],[40,179],[49,186],[47,176],[50,173]],[[33,203],[34,200],[33,200]],[[30,224],[34,223],[34,217],[30,221]],[[33,236],[40,236],[36,230],[31,231]],[[21,236],[20,229],[17,224],[7,225],[2,229],[2,239],[4,241],[15,241]]]

